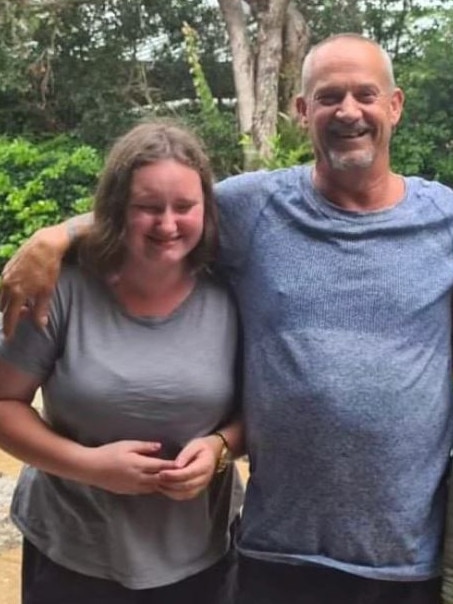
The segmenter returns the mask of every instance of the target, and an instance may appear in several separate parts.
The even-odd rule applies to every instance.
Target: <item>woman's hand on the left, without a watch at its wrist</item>
[[[88,448],[83,482],[118,495],[155,493],[160,473],[175,467],[174,461],[156,457],[160,448],[159,443],[135,440]]]

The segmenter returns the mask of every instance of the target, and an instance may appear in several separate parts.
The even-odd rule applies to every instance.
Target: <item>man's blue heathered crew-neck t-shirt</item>
[[[387,580],[439,572],[452,443],[453,192],[344,211],[297,167],[217,187],[245,331],[239,550]]]

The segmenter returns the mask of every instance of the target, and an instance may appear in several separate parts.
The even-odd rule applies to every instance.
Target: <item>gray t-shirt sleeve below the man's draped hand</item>
[[[63,346],[65,288],[62,280],[53,295],[46,327],[40,328],[30,317],[24,317],[19,321],[14,336],[7,341],[0,320],[0,357],[42,382],[52,372]]]

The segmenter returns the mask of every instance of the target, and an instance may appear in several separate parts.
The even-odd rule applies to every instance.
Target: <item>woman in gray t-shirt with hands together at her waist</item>
[[[205,270],[217,231],[199,143],[135,127],[94,214],[47,327],[24,320],[0,346],[0,445],[29,464],[12,504],[23,602],[213,604],[241,428],[235,309]]]

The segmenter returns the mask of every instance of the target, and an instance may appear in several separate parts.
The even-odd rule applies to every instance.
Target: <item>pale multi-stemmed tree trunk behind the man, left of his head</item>
[[[290,0],[245,0],[256,23],[251,42],[247,15],[241,0],[218,0],[226,23],[241,134],[251,140],[255,153],[245,146],[245,168],[256,165],[256,155],[266,157],[276,134],[279,107],[289,110],[300,86],[300,70],[308,33],[305,20]],[[282,72],[283,69],[283,72]]]

